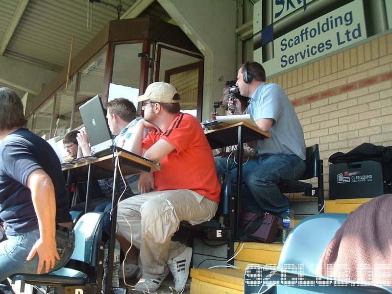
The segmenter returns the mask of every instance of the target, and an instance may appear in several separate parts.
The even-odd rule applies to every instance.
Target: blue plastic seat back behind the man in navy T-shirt
[[[98,244],[102,240],[103,212],[88,212],[74,227],[75,249],[71,259],[97,265]]]

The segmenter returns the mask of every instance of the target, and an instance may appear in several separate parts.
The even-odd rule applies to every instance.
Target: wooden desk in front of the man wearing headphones
[[[244,143],[270,138],[271,135],[245,122],[233,123],[214,130],[208,130],[205,131],[204,134],[206,135],[208,143],[212,149],[237,145],[239,162],[237,165],[237,191],[236,194],[231,197],[232,201],[230,202],[230,244],[228,246],[228,256],[233,256],[234,242],[237,238],[238,223],[240,219],[239,208],[241,199]],[[232,264],[234,264],[234,259],[232,260]]]

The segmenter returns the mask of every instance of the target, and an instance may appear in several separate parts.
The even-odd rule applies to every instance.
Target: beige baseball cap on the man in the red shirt
[[[134,98],[134,102],[152,100],[161,103],[178,103],[179,100],[173,100],[173,97],[177,93],[177,90],[169,84],[165,82],[155,82],[149,84],[146,92],[139,96],[138,98]]]

